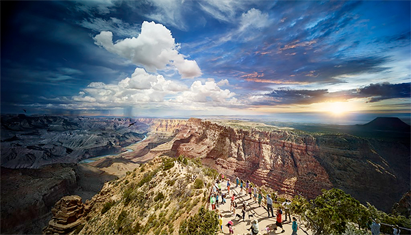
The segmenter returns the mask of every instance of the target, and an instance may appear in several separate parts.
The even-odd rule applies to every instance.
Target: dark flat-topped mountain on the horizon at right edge
[[[391,132],[410,132],[410,125],[397,117],[377,117],[373,121],[362,125],[369,130],[382,130]]]

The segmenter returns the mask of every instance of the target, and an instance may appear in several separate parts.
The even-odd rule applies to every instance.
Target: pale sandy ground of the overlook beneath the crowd
[[[227,181],[224,181],[221,183],[221,190],[222,193],[227,193]],[[258,207],[258,203],[254,203],[253,199],[249,199],[249,195],[245,195],[244,190],[242,192],[242,195],[239,195],[240,193],[240,186],[236,188],[235,180],[234,180],[234,186],[232,184],[232,188],[230,189],[230,194],[236,193],[236,203],[238,204],[238,207],[236,208],[236,214],[241,214],[241,207],[242,207],[242,201],[247,201],[249,205],[249,210],[247,210],[247,213],[245,214],[245,221],[242,221],[242,219],[238,219],[238,217],[235,217],[235,214],[232,215],[232,212],[229,211],[229,204],[231,202],[231,199],[228,197],[226,198],[227,203],[221,204],[219,203],[219,206],[216,208],[221,212],[223,215],[223,233],[219,234],[229,234],[228,227],[226,226],[228,221],[233,221],[234,222],[234,234],[250,234],[250,231],[247,230],[251,227],[251,221],[254,219],[258,219],[258,227],[260,232],[258,234],[267,234],[266,230],[264,228],[266,225],[275,225],[275,221],[277,218],[273,217],[268,217],[268,213],[265,209],[265,207],[260,206]],[[219,202],[221,202],[221,198],[219,198]],[[264,204],[264,199],[262,200],[262,205]],[[211,210],[211,206],[209,206],[209,210]],[[275,209],[274,214],[275,214]],[[253,217],[248,217],[249,212],[253,213]],[[291,225],[292,223],[290,221],[284,221],[285,215],[282,215],[282,225],[284,227],[285,232],[282,233],[281,227],[278,227],[276,231],[269,232],[270,235],[273,234],[291,234],[292,233],[292,228]],[[297,221],[299,221],[299,218],[295,215],[291,214],[291,218],[296,217]],[[300,224],[299,224],[300,225]],[[307,231],[306,227],[303,227],[301,225],[301,228],[308,232],[308,234],[312,234],[310,230]],[[298,235],[306,235],[300,228],[297,230]]]

